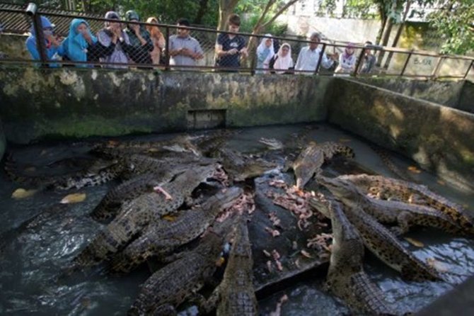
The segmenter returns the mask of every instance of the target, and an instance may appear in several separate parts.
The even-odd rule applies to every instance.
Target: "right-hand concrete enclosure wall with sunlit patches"
[[[473,191],[474,115],[337,78],[328,120]],[[329,97],[329,96],[328,96]]]

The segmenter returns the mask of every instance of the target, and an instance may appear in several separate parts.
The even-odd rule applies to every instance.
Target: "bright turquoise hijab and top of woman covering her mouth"
[[[97,43],[97,38],[91,34],[91,30],[89,29],[89,24],[86,20],[82,18],[74,18],[71,21],[71,26],[69,27],[69,35],[64,40],[64,52],[66,53],[69,60],[74,62],[86,62],[87,61],[87,47],[88,42],[83,37],[81,33],[77,31],[77,27],[84,23],[87,26],[87,32],[89,36],[92,38],[92,43]],[[77,67],[87,67],[85,64],[78,64]]]

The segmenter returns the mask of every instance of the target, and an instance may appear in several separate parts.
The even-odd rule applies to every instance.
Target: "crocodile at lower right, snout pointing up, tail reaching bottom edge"
[[[364,243],[346,218],[342,205],[330,202],[333,246],[328,269],[328,288],[347,303],[355,314],[396,315],[382,291],[364,272]]]

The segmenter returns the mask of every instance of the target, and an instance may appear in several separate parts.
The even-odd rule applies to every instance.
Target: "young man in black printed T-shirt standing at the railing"
[[[241,27],[241,18],[237,14],[229,16],[229,32],[237,33]],[[241,67],[240,58],[248,57],[245,40],[241,35],[221,33],[216,43],[216,66],[227,68]]]

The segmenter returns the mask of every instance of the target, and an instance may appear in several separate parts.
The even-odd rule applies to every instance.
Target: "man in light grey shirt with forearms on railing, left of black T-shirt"
[[[178,34],[170,36],[170,65],[195,66],[204,57],[200,43],[190,36],[190,22],[185,18],[178,20]]]

